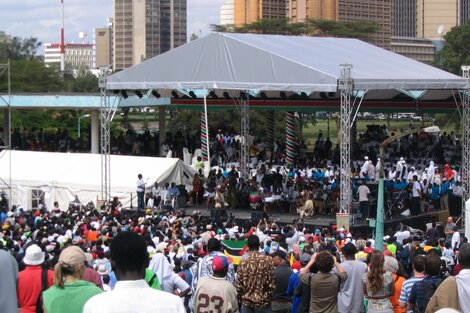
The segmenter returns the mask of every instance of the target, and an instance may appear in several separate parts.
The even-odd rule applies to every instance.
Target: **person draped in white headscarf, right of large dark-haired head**
[[[163,291],[184,297],[191,290],[188,283],[173,272],[170,262],[168,262],[163,253],[156,253],[150,260],[148,268],[157,274],[158,281]]]

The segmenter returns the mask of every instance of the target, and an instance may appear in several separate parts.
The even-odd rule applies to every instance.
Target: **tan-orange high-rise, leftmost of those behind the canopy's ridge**
[[[286,0],[235,0],[234,9],[235,26],[261,19],[286,18]]]

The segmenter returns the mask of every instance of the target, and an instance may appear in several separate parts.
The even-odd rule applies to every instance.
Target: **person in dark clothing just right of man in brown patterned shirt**
[[[287,262],[287,253],[282,250],[277,250],[271,254],[273,264],[276,267],[274,270],[274,289],[273,297],[271,299],[271,311],[280,313],[289,313],[291,311],[292,297],[287,293],[289,287],[289,279],[294,273]]]

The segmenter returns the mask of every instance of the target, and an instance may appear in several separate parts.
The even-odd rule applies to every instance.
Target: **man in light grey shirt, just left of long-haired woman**
[[[348,279],[341,285],[338,296],[338,312],[364,312],[364,290],[360,286],[362,285],[362,276],[368,270],[367,264],[356,260],[357,249],[352,243],[345,244],[342,251],[346,260],[340,265],[348,274]]]

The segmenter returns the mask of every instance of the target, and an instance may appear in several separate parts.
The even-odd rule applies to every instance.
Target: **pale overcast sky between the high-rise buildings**
[[[188,37],[210,33],[210,24],[220,23],[225,0],[187,0]],[[113,0],[64,0],[65,42],[93,41],[93,28],[104,27],[113,16]],[[0,0],[0,31],[23,38],[37,37],[42,43],[60,41],[60,0]]]

